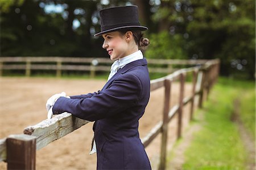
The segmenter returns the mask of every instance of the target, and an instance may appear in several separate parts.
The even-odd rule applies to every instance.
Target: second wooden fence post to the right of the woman
[[[184,75],[184,73],[180,73],[180,98],[179,98],[178,128],[177,128],[177,138],[178,139],[181,138],[181,131],[182,131],[184,82],[185,82],[185,75]]]

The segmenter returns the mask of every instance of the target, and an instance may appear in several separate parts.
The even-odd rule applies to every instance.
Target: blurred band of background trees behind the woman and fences
[[[255,76],[253,0],[0,0],[1,56],[109,57],[98,11],[138,5],[147,58],[221,59],[221,74]]]

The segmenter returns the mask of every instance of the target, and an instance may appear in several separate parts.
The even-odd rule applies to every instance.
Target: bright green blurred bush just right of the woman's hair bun
[[[145,52],[152,59],[186,59],[184,38],[180,34],[170,35],[167,31],[151,34],[150,47]]]

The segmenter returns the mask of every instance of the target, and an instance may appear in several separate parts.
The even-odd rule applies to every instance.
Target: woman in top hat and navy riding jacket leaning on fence
[[[139,118],[150,97],[147,61],[139,50],[149,44],[142,38],[137,6],[100,11],[102,47],[115,60],[102,90],[80,96],[55,94],[47,101],[49,115],[65,111],[93,125],[97,169],[151,169],[139,139]],[[50,116],[51,117],[51,116]]]

